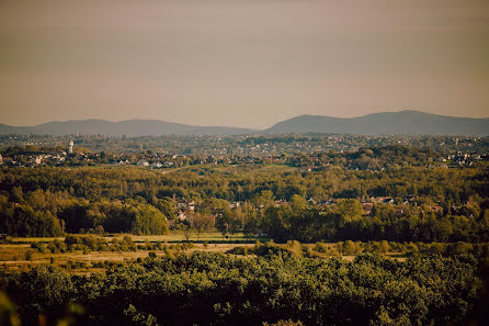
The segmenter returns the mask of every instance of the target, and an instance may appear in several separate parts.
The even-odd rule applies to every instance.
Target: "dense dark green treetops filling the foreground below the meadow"
[[[53,323],[72,305],[84,312],[79,325],[462,325],[477,313],[481,268],[468,256],[349,262],[195,252],[81,277],[39,267],[0,284],[24,325],[39,314]]]

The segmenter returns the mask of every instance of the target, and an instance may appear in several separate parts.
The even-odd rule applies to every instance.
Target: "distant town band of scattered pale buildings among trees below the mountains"
[[[440,156],[435,151],[424,150],[422,158],[414,154],[398,155],[393,158],[387,154],[366,156],[363,151],[343,153],[343,149],[336,151],[338,144],[349,144],[344,148],[359,150],[359,146],[353,146],[355,142],[372,143],[377,138],[353,136],[325,136],[325,137],[278,137],[278,138],[209,138],[213,142],[223,142],[220,147],[216,147],[217,151],[204,148],[198,154],[169,154],[166,150],[152,151],[145,150],[140,153],[132,151],[96,151],[90,154],[77,153],[73,155],[73,140],[69,140],[65,150],[54,153],[39,153],[18,150],[16,157],[8,157],[0,159],[0,164],[12,166],[38,166],[38,165],[100,165],[112,164],[118,166],[136,165],[153,169],[174,168],[191,165],[240,165],[240,164],[275,164],[287,165],[298,168],[300,172],[310,172],[328,166],[341,166],[345,169],[362,170],[384,170],[393,164],[393,159],[397,159],[397,164],[416,161],[418,165],[425,167],[470,167],[475,161],[489,158],[476,151],[452,151],[446,156]],[[391,140],[394,140],[393,138]],[[202,139],[201,139],[202,140]],[[201,142],[200,140],[200,142]],[[400,140],[397,140],[400,142]],[[363,144],[362,143],[362,144]],[[401,142],[405,145],[405,142]],[[236,145],[232,147],[231,145]],[[351,145],[351,146],[350,146]],[[359,145],[359,144],[356,144]],[[224,146],[224,147],[223,147]],[[329,147],[332,146],[332,147]],[[353,147],[352,147],[353,146]],[[232,147],[232,148],[231,148]],[[329,148],[329,149],[328,149]],[[343,148],[343,147],[341,147]],[[232,150],[231,150],[232,149]],[[287,149],[287,150],[285,150]],[[284,153],[293,149],[294,154],[286,155]],[[207,153],[208,154],[205,154]],[[35,154],[32,154],[35,153]],[[360,153],[360,154],[359,154]],[[447,153],[447,151],[445,151]],[[414,157],[416,156],[416,157]],[[70,159],[67,159],[67,158]]]

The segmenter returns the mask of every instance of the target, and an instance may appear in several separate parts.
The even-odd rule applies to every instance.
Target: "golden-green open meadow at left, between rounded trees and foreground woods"
[[[72,271],[94,271],[95,262],[121,262],[130,261],[148,256],[148,251],[158,256],[175,254],[192,254],[193,251],[227,252],[238,246],[251,247],[258,240],[266,238],[249,238],[242,233],[223,236],[218,232],[206,232],[202,234],[190,233],[187,237],[184,232],[171,232],[166,235],[129,235],[111,234],[98,236],[104,243],[129,237],[134,247],[129,250],[115,250],[110,246],[102,250],[50,248],[50,244],[65,244],[65,237],[10,237],[4,244],[0,244],[0,269],[27,270],[39,265],[53,265],[66,267],[71,263]],[[42,247],[39,247],[42,246]],[[46,248],[47,246],[47,248]],[[34,247],[34,248],[33,248]],[[162,248],[167,249],[163,250]],[[39,250],[38,248],[45,248]]]

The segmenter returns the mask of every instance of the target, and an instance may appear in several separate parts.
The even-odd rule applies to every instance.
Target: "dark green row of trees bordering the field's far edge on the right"
[[[362,216],[357,200],[340,200],[332,209],[310,207],[294,196],[291,205],[269,206],[259,226],[277,241],[395,240],[488,241],[489,209],[473,206],[470,216],[435,214],[428,207],[378,204],[371,216]]]

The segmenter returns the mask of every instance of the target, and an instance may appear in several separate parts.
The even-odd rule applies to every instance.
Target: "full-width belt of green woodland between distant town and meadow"
[[[162,173],[3,167],[0,231],[18,236],[95,229],[160,234],[175,218],[177,201],[192,199],[197,205],[189,212],[191,227],[225,234],[266,233],[278,241],[485,241],[488,180],[485,168],[298,172],[275,166],[203,166]],[[397,204],[375,204],[364,216],[360,201],[371,196],[391,196]],[[336,204],[320,205],[327,199]],[[276,206],[277,200],[286,205]],[[235,201],[242,205],[231,210]]]

